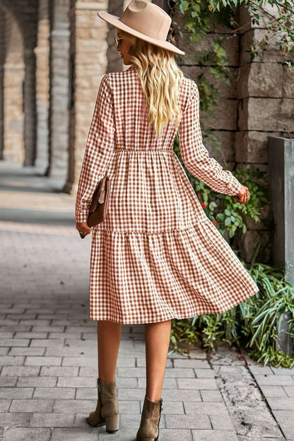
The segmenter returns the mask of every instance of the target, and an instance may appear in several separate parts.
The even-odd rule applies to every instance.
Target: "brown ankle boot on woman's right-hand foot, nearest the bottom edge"
[[[162,398],[158,401],[151,401],[145,395],[136,441],[159,441],[159,422],[162,408]]]

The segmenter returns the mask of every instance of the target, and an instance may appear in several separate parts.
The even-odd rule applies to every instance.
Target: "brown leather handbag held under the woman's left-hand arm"
[[[93,193],[87,220],[89,227],[94,227],[95,225],[98,225],[98,223],[102,222],[102,220],[104,220],[107,214],[109,194],[110,178],[105,175],[105,177],[100,180],[98,187]],[[86,235],[83,235],[83,233],[80,233],[80,236],[82,239],[86,237]]]

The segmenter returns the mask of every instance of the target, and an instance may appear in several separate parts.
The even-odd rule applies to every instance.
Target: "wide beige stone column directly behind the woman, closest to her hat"
[[[107,11],[107,7],[107,0],[99,3],[80,0],[75,5],[74,124],[70,124],[69,153],[73,155],[70,163],[74,169],[69,169],[64,187],[66,192],[72,187],[73,191],[76,190],[98,88],[107,70],[108,28],[107,23],[97,16],[98,10]]]

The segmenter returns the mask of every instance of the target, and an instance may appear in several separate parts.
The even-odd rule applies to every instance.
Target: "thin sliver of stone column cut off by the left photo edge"
[[[5,12],[0,7],[0,160],[4,154]]]

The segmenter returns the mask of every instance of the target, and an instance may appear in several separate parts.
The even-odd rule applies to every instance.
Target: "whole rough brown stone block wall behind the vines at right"
[[[178,13],[175,20],[183,28],[182,14]],[[237,35],[232,35],[224,26],[213,24],[211,33],[203,41],[191,42],[187,32],[182,38],[176,33],[177,44],[186,52],[180,64],[194,81],[202,72],[209,81],[213,81],[208,66],[200,69],[193,56],[209,51],[216,35],[226,36],[223,47],[227,52],[232,78],[230,86],[222,81],[213,81],[220,93],[220,100],[213,110],[215,118],[204,114],[200,116],[206,127],[213,128],[213,134],[221,143],[221,151],[213,151],[209,142],[206,148],[223,167],[230,170],[244,164],[254,164],[265,172],[261,183],[267,184],[267,137],[294,136],[294,82],[280,64],[277,37],[270,40],[269,47],[259,57],[250,60],[248,50],[253,39],[258,39],[266,30],[252,26],[245,8],[240,11],[238,20],[240,30]],[[235,245],[245,261],[252,260],[259,241],[257,259],[265,262],[271,260],[271,227],[271,209],[266,206],[261,212],[261,222],[249,220],[247,233],[236,236]]]

